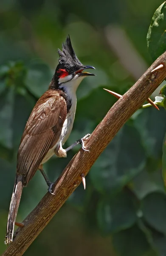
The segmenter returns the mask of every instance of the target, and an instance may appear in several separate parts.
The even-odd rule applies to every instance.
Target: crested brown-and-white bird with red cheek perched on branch
[[[46,163],[54,154],[66,157],[67,152],[77,144],[84,147],[84,139],[64,149],[62,146],[68,140],[73,128],[76,113],[76,90],[81,81],[87,76],[95,76],[85,72],[86,69],[95,69],[83,65],[76,56],[71,44],[70,36],[58,49],[59,63],[48,87],[48,90],[39,98],[25,125],[17,153],[17,171],[14,189],[9,207],[5,244],[13,241],[14,225],[20,204],[23,187],[39,169],[52,193],[52,185],[43,170]]]

